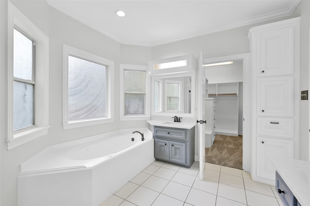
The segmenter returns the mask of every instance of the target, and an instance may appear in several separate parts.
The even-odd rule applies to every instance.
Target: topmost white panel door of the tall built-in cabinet
[[[258,76],[294,74],[294,27],[258,35]]]

